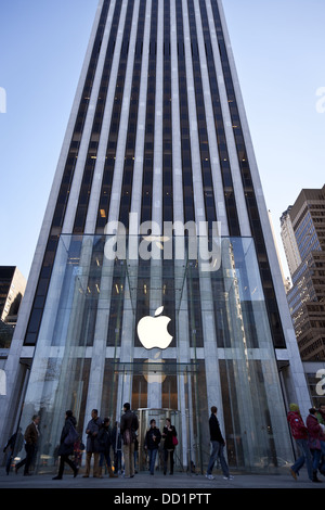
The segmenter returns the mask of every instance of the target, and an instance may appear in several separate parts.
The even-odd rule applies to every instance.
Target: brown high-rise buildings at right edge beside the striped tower
[[[301,359],[325,361],[325,186],[303,189],[282,227],[288,264],[296,260],[287,297]]]

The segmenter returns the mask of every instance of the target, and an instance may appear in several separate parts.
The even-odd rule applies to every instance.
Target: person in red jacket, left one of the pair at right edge
[[[306,463],[308,476],[313,481],[313,466],[312,466],[312,456],[308,445],[308,429],[303,423],[302,417],[300,415],[300,409],[297,404],[290,404],[289,411],[287,413],[287,420],[290,425],[291,435],[297,445],[299,457],[296,462],[290,468],[290,473],[295,480],[299,475],[299,471],[302,466]]]

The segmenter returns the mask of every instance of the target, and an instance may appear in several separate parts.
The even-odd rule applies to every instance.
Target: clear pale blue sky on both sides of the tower
[[[1,0],[0,265],[27,278],[98,0]],[[278,244],[278,218],[325,183],[324,0],[223,0]],[[325,105],[325,101],[323,103]]]

